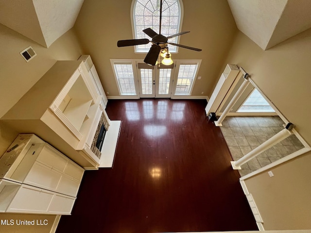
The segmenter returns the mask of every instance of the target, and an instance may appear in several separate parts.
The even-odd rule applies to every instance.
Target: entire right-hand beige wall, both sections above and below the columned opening
[[[226,63],[242,66],[311,144],[311,29],[263,51],[239,32]],[[225,67],[225,64],[223,67]],[[266,230],[311,229],[311,153],[245,180]]]

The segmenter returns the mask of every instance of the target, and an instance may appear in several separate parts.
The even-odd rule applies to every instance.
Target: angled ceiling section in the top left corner
[[[49,48],[73,27],[84,0],[0,0],[0,23]]]

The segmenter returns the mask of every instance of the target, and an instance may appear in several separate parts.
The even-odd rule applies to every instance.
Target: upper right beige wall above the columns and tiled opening
[[[248,72],[259,89],[311,144],[311,29],[263,51],[239,32],[226,59]],[[223,64],[223,68],[225,68]]]

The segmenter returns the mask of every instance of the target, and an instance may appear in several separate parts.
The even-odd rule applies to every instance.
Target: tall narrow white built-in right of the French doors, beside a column
[[[234,82],[238,73],[240,72],[237,65],[227,64],[224,72],[220,76],[218,83],[210,96],[207,106],[205,108],[207,116],[209,113],[216,113],[221,102],[224,100],[225,95],[227,94],[230,86]]]

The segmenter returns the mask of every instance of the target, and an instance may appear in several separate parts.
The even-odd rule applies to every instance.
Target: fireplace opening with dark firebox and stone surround
[[[104,144],[104,138],[108,130],[108,127],[109,127],[108,121],[104,116],[104,114],[102,114],[96,129],[95,136],[93,138],[92,146],[90,148],[98,158],[101,158],[102,155],[101,150]]]

